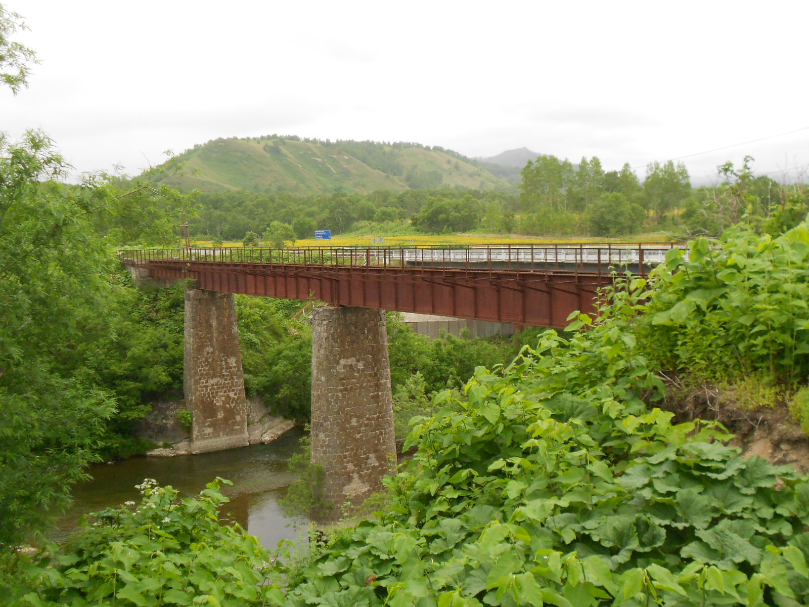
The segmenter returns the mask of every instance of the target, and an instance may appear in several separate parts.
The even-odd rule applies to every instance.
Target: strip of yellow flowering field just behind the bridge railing
[[[314,240],[305,239],[295,242],[296,247],[349,247],[349,246],[371,246],[372,238],[379,238],[379,236],[348,236],[345,238],[337,237],[332,240]],[[430,246],[440,244],[467,244],[467,245],[485,245],[485,244],[548,244],[548,243],[587,243],[587,244],[607,244],[607,243],[667,243],[670,242],[670,237],[664,232],[650,232],[646,234],[639,234],[620,239],[609,238],[591,238],[591,237],[570,237],[570,238],[539,238],[536,236],[519,236],[519,235],[485,235],[485,234],[441,234],[441,235],[419,235],[419,236],[385,236],[384,246]],[[211,242],[205,240],[197,240],[194,244],[201,246],[211,246]],[[240,247],[242,243],[226,242],[225,247]]]

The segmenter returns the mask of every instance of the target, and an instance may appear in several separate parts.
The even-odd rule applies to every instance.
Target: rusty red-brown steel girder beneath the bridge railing
[[[574,310],[595,310],[608,275],[486,268],[366,267],[154,260],[139,267],[163,278],[193,278],[201,289],[329,304],[563,327]]]

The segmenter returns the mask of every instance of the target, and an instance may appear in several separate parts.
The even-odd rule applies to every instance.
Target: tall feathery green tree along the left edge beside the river
[[[57,183],[65,169],[44,135],[0,136],[0,549],[68,503],[115,410],[60,372],[104,316],[112,263],[92,229],[105,196]]]

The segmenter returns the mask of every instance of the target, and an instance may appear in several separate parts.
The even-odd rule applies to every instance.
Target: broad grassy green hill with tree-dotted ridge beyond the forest
[[[179,159],[184,175],[167,183],[203,192],[249,189],[307,196],[378,189],[514,189],[463,155],[417,143],[220,138],[184,151]]]

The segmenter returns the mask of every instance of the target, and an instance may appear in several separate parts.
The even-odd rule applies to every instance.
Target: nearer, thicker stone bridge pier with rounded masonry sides
[[[324,468],[324,497],[362,503],[395,471],[391,367],[385,312],[312,312],[311,460]],[[337,516],[331,516],[336,518]]]

